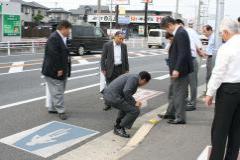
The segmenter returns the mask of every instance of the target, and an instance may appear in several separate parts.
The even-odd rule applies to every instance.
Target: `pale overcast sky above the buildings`
[[[33,1],[33,0],[25,0]],[[97,0],[34,0],[42,5],[45,5],[49,8],[53,7],[62,7],[66,10],[76,9],[79,5],[96,5]],[[102,0],[102,5],[106,5],[108,0]],[[208,1],[208,0],[204,0]],[[210,12],[211,14],[215,13],[215,3],[216,0],[210,1]],[[144,9],[142,0],[130,0],[130,6],[125,6],[125,8],[133,9]],[[175,11],[176,0],[153,0],[153,4],[149,6],[150,9],[155,10],[170,10]],[[183,14],[185,18],[193,18],[197,13],[197,4],[198,0],[179,0],[179,12]],[[239,12],[240,0],[225,0],[225,15],[231,18],[236,19],[240,16]]]

